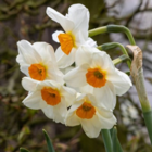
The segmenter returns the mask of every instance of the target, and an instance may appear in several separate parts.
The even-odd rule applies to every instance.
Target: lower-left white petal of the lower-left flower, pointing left
[[[24,100],[23,103],[33,110],[39,110],[47,106],[47,103],[42,100],[41,93],[39,91],[35,91],[29,93]]]

